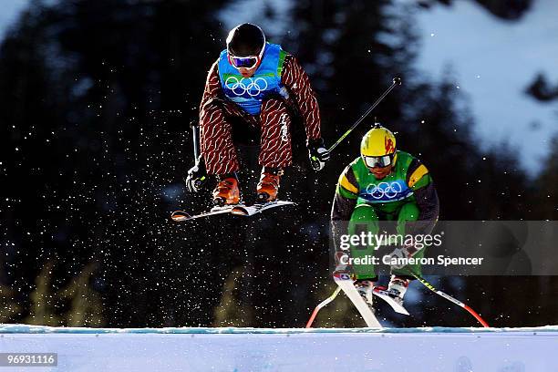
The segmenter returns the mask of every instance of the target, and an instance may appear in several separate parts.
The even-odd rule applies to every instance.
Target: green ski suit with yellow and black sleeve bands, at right
[[[433,229],[439,215],[438,194],[428,169],[412,155],[397,151],[392,171],[382,180],[371,173],[364,160],[358,157],[341,173],[331,211],[334,241],[340,233],[355,234],[366,226],[368,232],[379,231],[379,221],[396,221],[397,233],[427,234]],[[418,222],[415,222],[418,221]],[[339,232],[342,222],[348,222],[348,231]],[[406,222],[414,222],[406,226]],[[424,255],[420,250],[414,257]],[[374,246],[351,250],[353,258],[373,255]],[[419,265],[409,267],[420,274]],[[356,279],[376,277],[373,264],[353,266]],[[407,276],[405,268],[392,270],[392,274]]]

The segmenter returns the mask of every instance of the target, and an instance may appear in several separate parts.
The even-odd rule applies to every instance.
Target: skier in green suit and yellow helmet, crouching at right
[[[417,158],[396,150],[393,133],[376,123],[361,142],[360,156],[346,167],[337,182],[331,212],[334,240],[337,242],[342,233],[356,234],[363,225],[367,232],[376,234],[379,221],[397,222],[399,236],[428,234],[438,215],[438,194],[429,170]],[[348,226],[342,222],[348,222]],[[345,228],[347,232],[339,231]],[[375,249],[374,245],[368,245],[364,249],[351,249],[349,254],[353,259],[372,256]],[[418,249],[415,244],[400,244],[390,255],[391,258],[418,258],[424,253],[425,249]],[[349,255],[342,254],[345,259]],[[336,253],[337,263],[342,254]],[[372,305],[372,289],[377,281],[374,264],[348,265],[346,260],[341,263],[337,269],[351,272],[356,289]],[[400,304],[414,279],[408,269],[420,274],[418,264],[391,265],[387,291]]]

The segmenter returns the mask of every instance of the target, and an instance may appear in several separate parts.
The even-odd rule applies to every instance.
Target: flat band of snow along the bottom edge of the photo
[[[115,329],[0,325],[0,352],[57,353],[58,366],[50,369],[57,371],[544,372],[558,370],[558,359],[552,357],[557,345],[558,326]]]

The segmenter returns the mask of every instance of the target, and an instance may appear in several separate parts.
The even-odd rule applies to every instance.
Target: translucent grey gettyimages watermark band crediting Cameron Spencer
[[[373,265],[377,274],[419,265],[431,275],[558,275],[556,221],[336,221],[331,228],[332,271],[341,263]],[[417,252],[390,257],[403,247]]]

